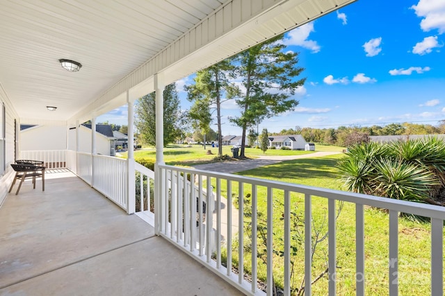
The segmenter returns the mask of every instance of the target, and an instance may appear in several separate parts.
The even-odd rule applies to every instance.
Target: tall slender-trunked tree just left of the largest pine
[[[229,82],[229,78],[234,78],[234,65],[231,60],[227,59],[218,62],[218,64],[213,64],[213,66],[207,69],[198,71],[194,79],[195,84],[185,87],[189,101],[195,101],[195,104],[201,107],[202,104],[207,104],[205,112],[210,113],[210,106],[215,106],[218,134],[223,134],[221,130],[221,103],[224,103],[239,93],[238,87]],[[223,96],[225,96],[225,98],[223,98]],[[208,114],[200,114],[200,112],[193,113],[195,120],[200,120],[201,115],[204,116],[203,120],[205,125],[208,121]],[[218,137],[218,156],[222,155],[223,138]]]

